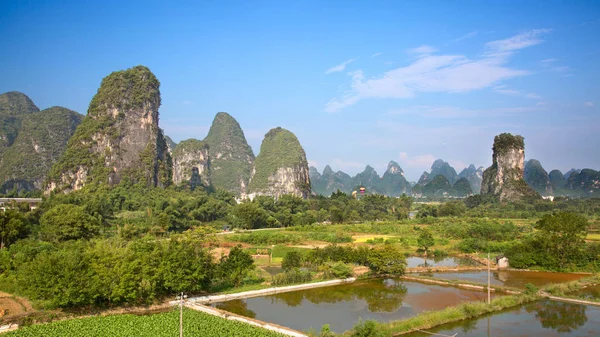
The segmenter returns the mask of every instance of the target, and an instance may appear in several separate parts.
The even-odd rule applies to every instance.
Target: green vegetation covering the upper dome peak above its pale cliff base
[[[300,168],[307,165],[306,154],[298,138],[280,127],[269,130],[254,162],[255,173],[250,181],[250,191],[263,191],[269,186],[269,177],[279,168]],[[308,172],[307,172],[308,173]],[[310,192],[304,188],[307,194]]]

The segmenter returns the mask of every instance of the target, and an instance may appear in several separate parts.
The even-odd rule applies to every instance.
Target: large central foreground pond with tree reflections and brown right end
[[[292,329],[319,331],[329,324],[343,332],[362,318],[388,322],[460,302],[485,300],[484,292],[395,279],[351,284],[217,303],[216,307]]]

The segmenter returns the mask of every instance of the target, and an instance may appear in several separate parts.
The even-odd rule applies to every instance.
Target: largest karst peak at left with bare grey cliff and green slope
[[[105,77],[65,154],[53,166],[47,191],[122,181],[169,185],[172,162],[158,127],[159,86],[144,66]]]

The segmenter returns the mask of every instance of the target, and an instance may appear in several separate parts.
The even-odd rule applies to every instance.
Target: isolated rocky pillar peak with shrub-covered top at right
[[[539,197],[523,179],[525,143],[523,137],[502,133],[494,137],[492,166],[483,172],[481,194],[491,194],[501,201]]]

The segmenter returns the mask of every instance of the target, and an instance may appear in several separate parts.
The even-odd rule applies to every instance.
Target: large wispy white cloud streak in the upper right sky
[[[431,55],[435,48],[420,46],[409,52],[418,58],[406,67],[392,69],[371,79],[352,76],[350,89],[341,97],[330,100],[324,110],[336,112],[369,98],[409,98],[417,93],[465,93],[498,82],[529,74],[527,70],[506,66],[517,50],[541,43],[539,35],[548,32],[536,29],[514,37],[488,42],[486,53],[478,59],[464,55]]]

